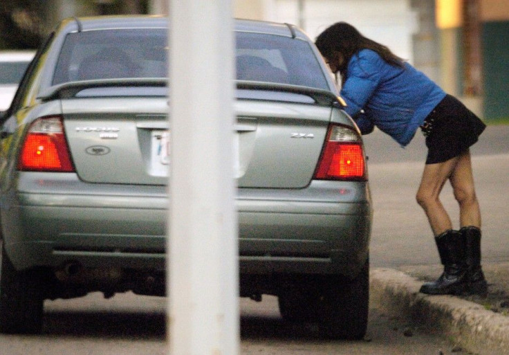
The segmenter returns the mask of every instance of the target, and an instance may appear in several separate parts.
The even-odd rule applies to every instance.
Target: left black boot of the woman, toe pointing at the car
[[[447,230],[435,237],[443,273],[435,282],[427,282],[420,292],[429,295],[459,295],[467,288],[465,239],[458,230]]]

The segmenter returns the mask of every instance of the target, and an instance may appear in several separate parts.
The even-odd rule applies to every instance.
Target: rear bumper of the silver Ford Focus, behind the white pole
[[[20,175],[3,194],[3,244],[18,269],[165,269],[167,197],[161,186],[86,184]],[[21,191],[21,192],[18,192]],[[300,190],[239,189],[241,273],[356,274],[369,250],[367,183],[313,181]],[[205,239],[206,240],[206,239]]]

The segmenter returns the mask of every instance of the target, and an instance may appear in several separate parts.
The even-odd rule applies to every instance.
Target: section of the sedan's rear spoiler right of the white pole
[[[336,95],[332,91],[316,89],[313,87],[300,87],[298,85],[277,84],[274,82],[250,82],[237,80],[237,89],[297,93],[313,98],[313,100],[315,100],[318,104],[326,106],[340,104],[341,107],[346,107],[346,102],[341,96]]]

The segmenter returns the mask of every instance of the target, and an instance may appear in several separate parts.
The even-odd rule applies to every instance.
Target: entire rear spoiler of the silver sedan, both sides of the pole
[[[316,89],[312,87],[300,87],[297,85],[277,84],[273,82],[251,82],[237,80],[237,89],[279,91],[284,93],[296,93],[306,95],[318,104],[333,105],[340,104],[346,107],[343,98],[335,95],[332,91]],[[84,89],[97,87],[166,87],[168,80],[166,78],[121,78],[121,79],[98,79],[82,80],[76,82],[64,82],[53,85],[41,90],[37,98],[42,101],[53,100],[56,98],[73,98],[77,93]]]

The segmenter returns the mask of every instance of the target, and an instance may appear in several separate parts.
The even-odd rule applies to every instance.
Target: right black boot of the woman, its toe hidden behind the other
[[[488,293],[488,282],[481,268],[481,230],[475,226],[463,227],[460,230],[465,239],[467,264],[467,292],[472,295]]]

